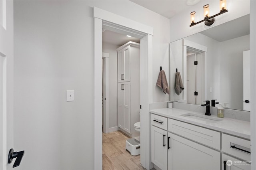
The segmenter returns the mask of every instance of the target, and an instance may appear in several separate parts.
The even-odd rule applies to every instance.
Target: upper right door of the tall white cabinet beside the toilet
[[[130,81],[130,45],[124,48],[122,59],[123,59],[123,81]]]

